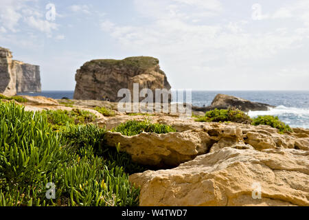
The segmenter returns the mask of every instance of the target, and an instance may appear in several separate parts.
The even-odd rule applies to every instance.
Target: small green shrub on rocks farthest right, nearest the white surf
[[[266,124],[272,126],[275,129],[279,129],[279,133],[286,133],[288,131],[292,132],[290,126],[288,124],[284,124],[284,122],[280,121],[279,118],[273,115],[263,115],[258,116],[258,118],[253,118],[253,125]]]

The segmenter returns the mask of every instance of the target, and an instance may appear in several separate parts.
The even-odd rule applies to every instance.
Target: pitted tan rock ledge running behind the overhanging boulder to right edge
[[[294,133],[284,135],[278,133],[277,129],[271,126],[238,123],[216,123],[216,122],[194,122],[192,118],[177,118],[168,115],[153,116],[128,116],[120,115],[113,118],[106,118],[100,121],[100,126],[113,129],[128,120],[149,119],[152,123],[168,124],[176,131],[182,132],[203,132],[209,135],[213,144],[210,151],[220,148],[231,147],[234,144],[249,144],[255,150],[262,151],[268,148],[295,148],[309,151],[309,131],[308,129],[295,129]],[[138,139],[139,137],[135,137]],[[137,140],[140,145],[148,146],[148,142]],[[149,140],[150,142],[150,140]],[[115,145],[115,144],[113,144]]]

